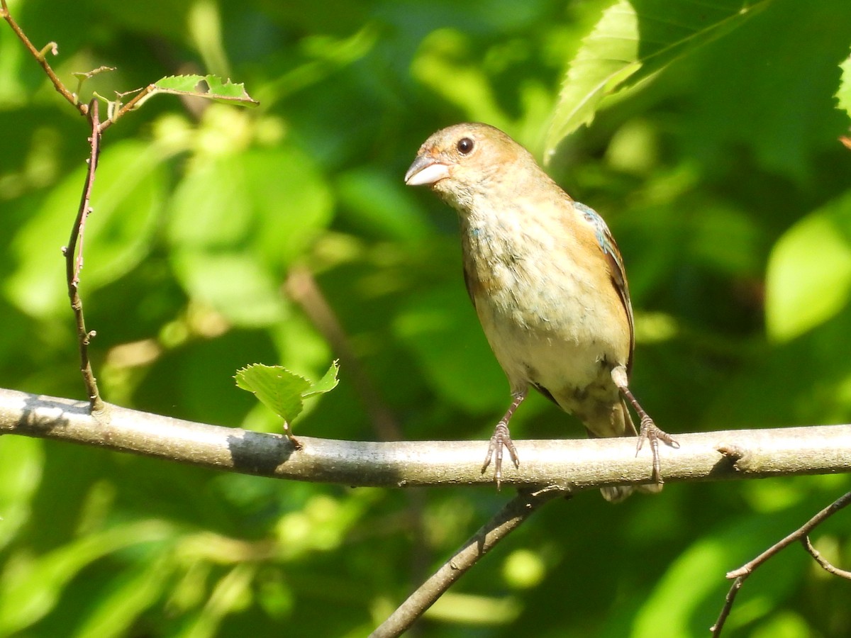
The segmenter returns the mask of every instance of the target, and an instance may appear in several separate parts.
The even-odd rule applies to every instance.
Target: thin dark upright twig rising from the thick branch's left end
[[[80,350],[80,372],[83,373],[83,383],[86,385],[86,393],[89,396],[89,406],[93,411],[102,410],[104,403],[100,398],[98,385],[92,372],[92,363],[89,360],[89,342],[94,337],[94,330],[86,329],[86,321],[83,316],[83,299],[80,298],[79,284],[80,271],[83,270],[83,238],[86,229],[86,219],[92,212],[90,206],[92,188],[94,187],[94,175],[98,167],[100,156],[100,117],[97,99],[89,103],[89,122],[92,126],[92,134],[89,137],[89,170],[86,172],[86,181],[83,185],[83,194],[80,197],[80,208],[77,209],[77,218],[71,227],[71,236],[68,245],[62,248],[65,254],[66,282],[68,285],[68,297],[71,299],[71,310],[77,321],[77,342]]]

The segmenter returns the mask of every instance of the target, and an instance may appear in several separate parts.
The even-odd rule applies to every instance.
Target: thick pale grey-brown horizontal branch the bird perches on
[[[568,423],[566,423],[568,425]],[[565,428],[570,436],[577,429]],[[485,441],[333,441],[192,423],[106,404],[0,390],[0,434],[20,434],[105,447],[216,470],[351,486],[490,483],[479,471]],[[677,435],[678,450],[662,446],[665,481],[715,481],[851,471],[851,425],[730,430]],[[719,452],[719,448],[724,453]],[[520,468],[503,483],[558,485],[572,491],[650,482],[649,453],[635,440],[517,441]]]

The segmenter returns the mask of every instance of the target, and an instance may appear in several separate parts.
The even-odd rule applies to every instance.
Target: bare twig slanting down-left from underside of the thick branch
[[[566,495],[569,495],[569,491],[559,487],[546,487],[537,492],[519,493],[494,518],[480,527],[477,533],[461,545],[460,550],[444,562],[431,578],[408,596],[408,600],[404,601],[374,630],[370,635],[371,638],[391,638],[401,635],[456,580],[473,567],[483,555],[492,550],[495,544],[520,527],[535,510],[557,496]]]

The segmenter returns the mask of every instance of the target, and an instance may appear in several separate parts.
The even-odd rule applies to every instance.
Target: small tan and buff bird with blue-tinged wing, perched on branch
[[[429,186],[457,210],[467,292],[510,385],[482,473],[493,460],[499,489],[506,450],[519,467],[509,423],[534,389],[578,417],[589,436],[638,436],[636,454],[648,441],[654,482],[641,488],[660,491],[659,441],[679,446],[630,390],[630,293],[603,218],[568,196],[522,145],[481,122],[432,134],[404,179]],[[632,491],[602,488],[612,502]]]

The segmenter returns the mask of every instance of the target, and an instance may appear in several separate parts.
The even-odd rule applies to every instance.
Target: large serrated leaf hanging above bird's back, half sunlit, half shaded
[[[620,0],[603,12],[570,63],[546,136],[545,157],[591,123],[603,100],[648,79],[711,40],[740,26],[771,0]]]

